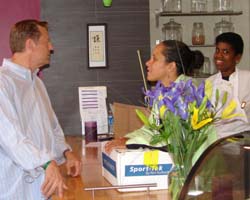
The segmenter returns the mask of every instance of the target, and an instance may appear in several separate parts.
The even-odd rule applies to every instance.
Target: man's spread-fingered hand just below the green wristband
[[[68,187],[64,183],[57,163],[52,160],[45,170],[45,180],[41,187],[42,193],[46,198],[51,197],[53,194],[62,198],[64,189],[68,189]]]

